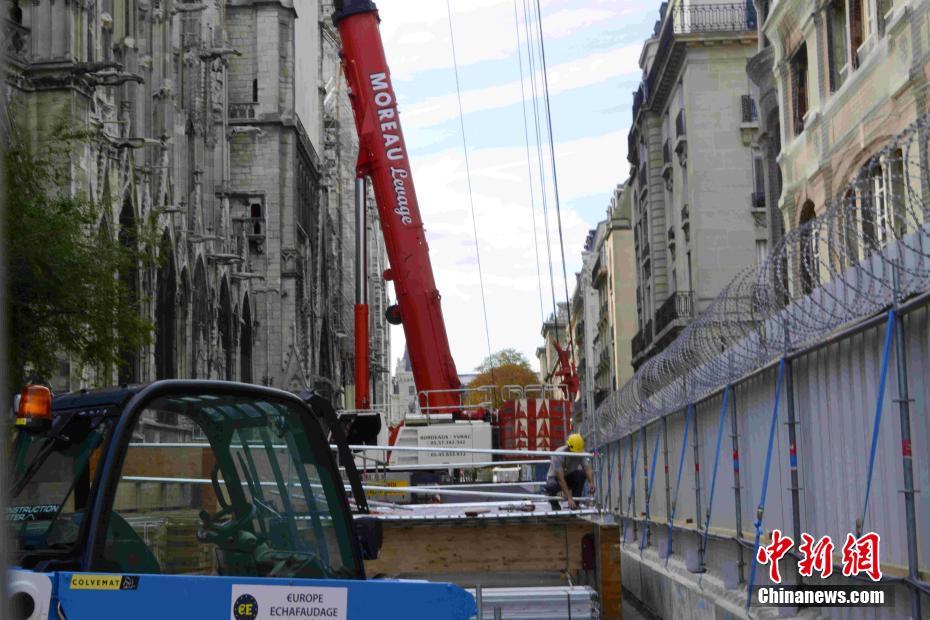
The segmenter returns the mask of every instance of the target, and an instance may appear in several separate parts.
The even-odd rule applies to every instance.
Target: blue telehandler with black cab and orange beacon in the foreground
[[[357,473],[322,415],[239,383],[54,399],[28,386],[7,512],[13,618],[469,617],[455,586],[366,580],[380,523],[353,518],[330,441],[360,492]]]

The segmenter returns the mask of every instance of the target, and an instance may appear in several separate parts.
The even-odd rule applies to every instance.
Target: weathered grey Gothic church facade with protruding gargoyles
[[[10,105],[36,132],[58,120],[95,129],[71,190],[112,205],[101,231],[146,221],[160,237],[157,266],[126,274],[155,324],[152,346],[126,351],[118,376],[72,367],[57,389],[213,378],[346,402],[354,210],[332,162],[354,162],[357,141],[324,130],[326,105],[347,106],[341,83],[324,82],[338,48],[327,11],[320,0],[11,5]],[[370,212],[366,268],[380,272]],[[370,283],[384,305],[384,282]],[[371,333],[383,365],[380,310]]]

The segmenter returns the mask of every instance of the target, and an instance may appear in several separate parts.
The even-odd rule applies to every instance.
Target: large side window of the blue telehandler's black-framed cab
[[[153,401],[133,429],[101,568],[358,576],[341,478],[315,424],[275,399]]]

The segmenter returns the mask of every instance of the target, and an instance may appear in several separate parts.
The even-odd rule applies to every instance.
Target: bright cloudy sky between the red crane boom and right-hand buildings
[[[450,3],[490,345],[494,351],[514,347],[536,366],[542,314],[552,311],[552,292],[535,155],[524,1]],[[452,354],[459,372],[469,372],[487,356],[488,345],[446,2],[378,0],[377,4]],[[535,0],[528,4],[535,5]],[[542,0],[541,4],[571,292],[585,236],[603,219],[612,189],[629,171],[626,133],[632,91],[640,79],[637,60],[642,41],[658,16],[659,3]],[[518,19],[530,111],[530,167]],[[541,84],[541,77],[537,81]],[[544,117],[541,122],[545,122]],[[547,140],[544,134],[552,270],[556,298],[562,301],[565,289]],[[531,209],[530,174],[535,211]],[[391,337],[392,358],[396,360],[404,347],[401,328],[394,328]]]

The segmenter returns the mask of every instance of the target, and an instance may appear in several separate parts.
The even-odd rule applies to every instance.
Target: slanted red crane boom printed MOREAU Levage
[[[407,146],[397,113],[397,98],[378,29],[378,9],[368,0],[335,3],[333,22],[342,39],[342,65],[359,137],[359,178],[371,179],[384,233],[410,366],[421,406],[457,411],[461,382],[449,349],[439,291],[417,204]],[[366,321],[367,322],[367,321]],[[367,357],[367,355],[366,355]],[[367,362],[367,360],[365,360]],[[358,386],[357,386],[358,387]]]

